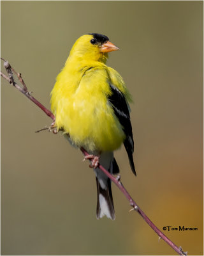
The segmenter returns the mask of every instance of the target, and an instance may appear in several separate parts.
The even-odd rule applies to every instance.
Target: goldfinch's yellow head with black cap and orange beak
[[[71,52],[70,58],[77,58],[85,61],[106,61],[108,52],[117,51],[119,48],[113,45],[107,36],[92,33],[83,35],[75,42]]]

